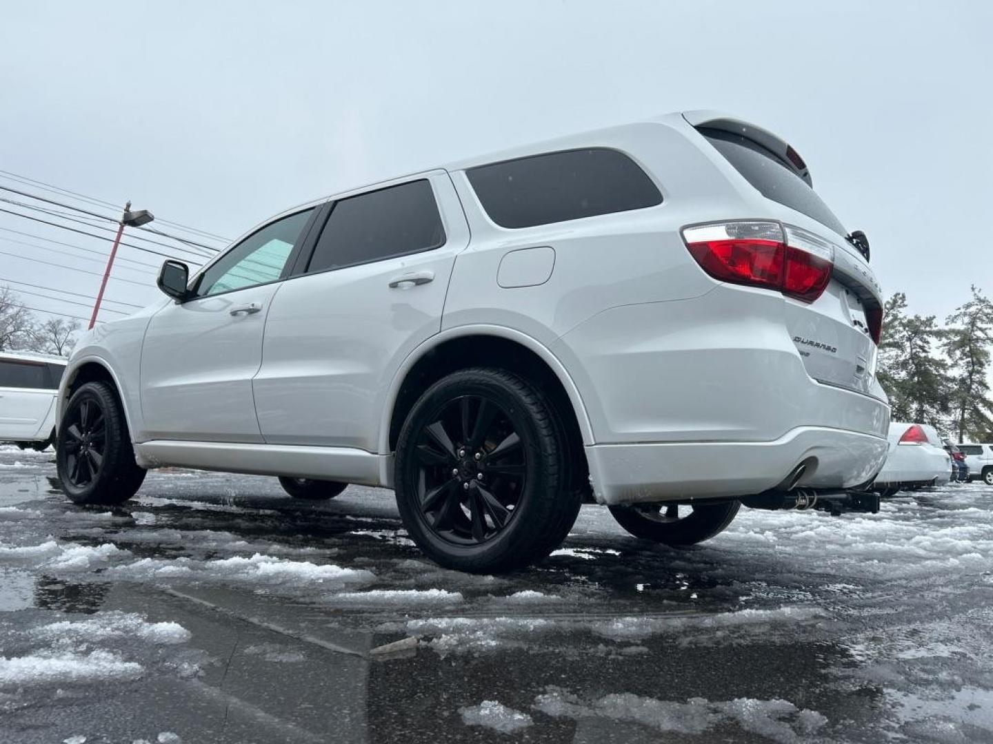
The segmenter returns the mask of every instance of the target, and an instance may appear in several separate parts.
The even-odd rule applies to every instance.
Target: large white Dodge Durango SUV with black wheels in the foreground
[[[432,558],[541,558],[586,499],[638,537],[739,504],[872,510],[890,409],[868,244],[780,138],[673,114],[294,207],[83,338],[59,470],[394,488]],[[878,504],[878,502],[877,502]]]

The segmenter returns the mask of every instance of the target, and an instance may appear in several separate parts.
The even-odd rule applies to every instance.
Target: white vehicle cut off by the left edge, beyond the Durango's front
[[[0,441],[42,450],[55,443],[60,356],[0,351]]]

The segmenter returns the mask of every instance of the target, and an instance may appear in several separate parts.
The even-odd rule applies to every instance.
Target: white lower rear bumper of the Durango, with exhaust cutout
[[[594,444],[586,447],[602,504],[748,496],[778,486],[800,463],[797,486],[852,488],[886,460],[882,436],[798,427],[772,441]]]

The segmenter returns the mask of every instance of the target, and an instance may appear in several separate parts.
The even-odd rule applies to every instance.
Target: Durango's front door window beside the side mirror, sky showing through
[[[252,233],[211,266],[197,283],[197,297],[219,295],[279,279],[314,209],[291,214]]]

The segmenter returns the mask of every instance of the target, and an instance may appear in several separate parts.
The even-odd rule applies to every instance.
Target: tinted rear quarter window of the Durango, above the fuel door
[[[591,148],[535,155],[466,172],[500,227],[532,227],[655,206],[662,194],[631,158]]]

